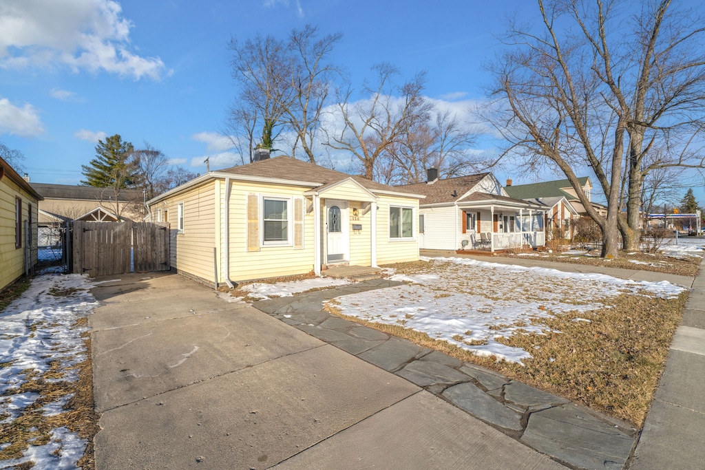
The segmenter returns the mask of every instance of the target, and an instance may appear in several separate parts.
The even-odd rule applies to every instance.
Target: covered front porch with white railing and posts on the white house
[[[474,194],[473,194],[474,195]],[[508,197],[478,194],[459,205],[463,221],[460,249],[494,253],[541,249],[546,245],[545,206]]]

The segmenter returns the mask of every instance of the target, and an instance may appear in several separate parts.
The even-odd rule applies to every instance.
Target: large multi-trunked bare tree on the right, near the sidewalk
[[[694,117],[701,111],[694,111],[705,104],[704,30],[694,16],[667,14],[670,3],[644,4],[627,18],[625,1],[539,0],[541,31],[513,24],[510,50],[490,67],[494,106],[486,118],[508,140],[507,153],[565,173],[600,225],[603,256],[618,256],[620,233],[626,248],[638,248],[644,174],[702,166],[682,145],[668,162],[644,165],[654,144],[674,146],[677,135],[702,128]],[[591,208],[575,176],[584,165],[607,197],[606,218]],[[620,217],[623,181],[628,224]]]

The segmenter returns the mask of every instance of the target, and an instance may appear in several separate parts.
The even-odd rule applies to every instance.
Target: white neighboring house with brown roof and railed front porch
[[[419,202],[422,249],[474,247],[494,252],[546,244],[546,206],[508,197],[491,173],[441,180],[438,170],[429,168],[427,176],[427,183],[400,186],[426,196]]]

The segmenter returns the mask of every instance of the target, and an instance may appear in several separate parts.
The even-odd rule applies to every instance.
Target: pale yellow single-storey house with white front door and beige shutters
[[[422,195],[288,156],[212,171],[147,202],[171,266],[209,285],[419,259]]]

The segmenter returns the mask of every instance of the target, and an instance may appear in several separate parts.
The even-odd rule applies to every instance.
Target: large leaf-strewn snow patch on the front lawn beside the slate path
[[[685,287],[623,280],[593,273],[565,273],[467,258],[435,258],[413,275],[393,275],[407,285],[336,297],[343,314],[427,333],[479,356],[521,362],[529,352],[497,341],[517,330],[542,333],[533,318],[602,309],[620,294],[677,297]],[[586,319],[587,320],[587,319]],[[586,325],[589,324],[587,321]]]

